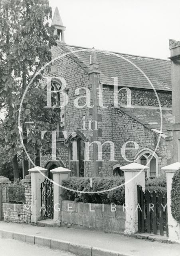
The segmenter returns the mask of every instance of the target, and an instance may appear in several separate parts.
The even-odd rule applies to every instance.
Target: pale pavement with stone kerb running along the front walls
[[[0,232],[4,238],[60,248],[80,256],[180,256],[180,244],[136,239],[121,234],[6,222],[0,222]]]

